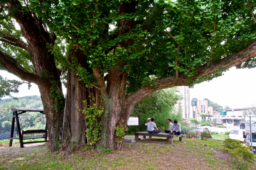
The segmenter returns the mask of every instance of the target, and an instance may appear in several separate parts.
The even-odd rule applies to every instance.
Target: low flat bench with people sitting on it
[[[183,134],[180,135],[170,135],[169,133],[148,133],[148,132],[135,132],[135,141],[139,140],[139,136],[148,136],[151,137],[168,137],[169,138],[169,144],[173,144],[173,138],[178,137],[180,141],[182,141]]]

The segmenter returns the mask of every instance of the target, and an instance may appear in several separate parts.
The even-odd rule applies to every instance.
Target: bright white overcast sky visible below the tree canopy
[[[16,76],[6,71],[0,71],[2,77],[16,79]],[[252,103],[256,104],[256,68],[239,69],[235,67],[225,72],[223,76],[214,78],[210,82],[203,82],[190,89],[190,99],[197,98],[203,100],[207,98],[215,103],[231,108],[248,107]],[[66,89],[63,87],[64,93]],[[30,90],[24,84],[19,88],[19,93],[12,94],[15,97],[40,95],[38,86],[32,84]],[[5,97],[9,98],[9,97]],[[4,99],[4,98],[3,98]]]

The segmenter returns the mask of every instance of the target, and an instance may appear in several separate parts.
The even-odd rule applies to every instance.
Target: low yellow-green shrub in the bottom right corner
[[[247,147],[241,145],[238,140],[226,139],[224,144],[223,150],[229,152],[243,166],[252,166],[255,163],[256,158],[254,154]]]

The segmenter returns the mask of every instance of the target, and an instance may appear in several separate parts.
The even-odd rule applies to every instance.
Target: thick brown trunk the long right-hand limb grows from
[[[96,78],[104,83],[103,78],[99,74],[99,70],[94,70]],[[105,83],[104,83],[105,84]],[[127,74],[120,74],[120,68],[110,69],[107,76],[106,88],[101,88],[102,98],[104,101],[104,113],[102,115],[102,131],[101,139],[97,147],[117,149],[117,136],[115,127],[119,126],[121,120],[125,119],[126,97],[125,90],[127,85]],[[104,86],[104,85],[103,85]]]

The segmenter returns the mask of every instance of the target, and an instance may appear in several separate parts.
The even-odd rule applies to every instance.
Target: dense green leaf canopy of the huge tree
[[[149,76],[166,78],[176,70],[191,86],[220,76],[221,72],[204,78],[196,74],[200,66],[256,39],[256,24],[243,0],[142,0],[136,1],[134,11],[122,13],[120,3],[127,1],[80,2],[43,0],[44,11],[38,1],[31,1],[31,7],[66,42],[81,46],[90,69],[100,67],[105,74],[121,67],[128,74],[127,92],[154,88]],[[250,7],[255,10],[255,4]],[[124,24],[128,22],[132,25]],[[69,67],[78,70],[80,80],[96,84],[92,72],[77,63],[74,56]],[[250,59],[239,68],[255,66],[255,59]]]

